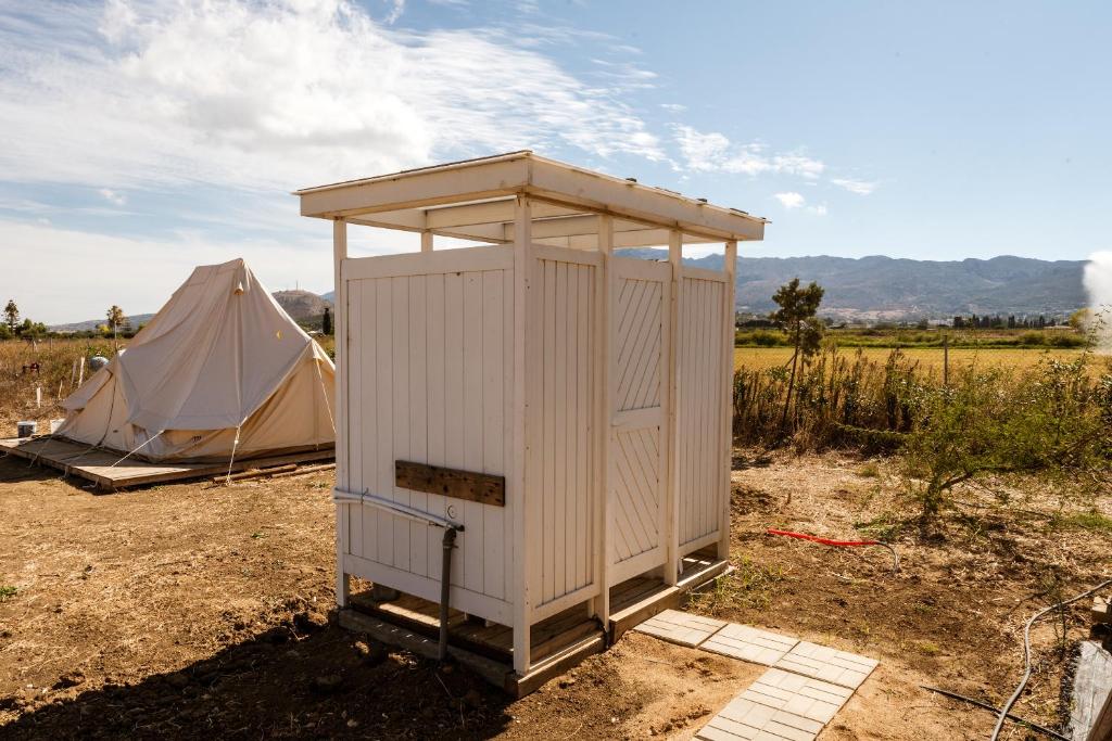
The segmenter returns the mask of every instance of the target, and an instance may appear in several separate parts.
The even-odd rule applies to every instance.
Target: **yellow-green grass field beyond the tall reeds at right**
[[[856,348],[841,351],[846,357],[854,357]],[[892,348],[861,348],[865,358],[883,363],[892,353]],[[942,372],[942,348],[906,348],[902,351],[909,359],[917,362],[925,372]],[[1016,348],[984,348],[980,350],[952,349],[950,351],[950,368],[977,366],[1009,366],[1012,368],[1030,368],[1045,358],[1074,360],[1081,356],[1081,350],[1046,350]],[[734,368],[764,369],[784,366],[792,359],[792,348],[736,348],[734,350]],[[1098,366],[1106,367],[1109,360]]]

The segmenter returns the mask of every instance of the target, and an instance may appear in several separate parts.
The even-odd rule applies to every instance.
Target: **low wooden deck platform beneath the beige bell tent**
[[[116,491],[129,487],[150,483],[167,483],[185,481],[212,475],[224,475],[228,472],[228,463],[149,463],[129,458],[113,465],[123,453],[90,448],[83,443],[69,440],[58,440],[48,437],[14,438],[0,440],[0,454],[9,453],[58,469],[66,474],[73,474],[97,484],[98,491]],[[237,460],[231,471],[248,471],[269,469],[289,464],[330,461],[336,457],[329,448],[325,450],[308,450],[269,458],[250,458]],[[286,469],[288,470],[288,469]]]

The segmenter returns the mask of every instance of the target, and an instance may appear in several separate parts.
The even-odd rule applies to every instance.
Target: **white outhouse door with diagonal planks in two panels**
[[[612,583],[664,563],[671,267],[614,258]]]

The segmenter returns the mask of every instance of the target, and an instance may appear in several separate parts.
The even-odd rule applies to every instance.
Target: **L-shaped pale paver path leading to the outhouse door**
[[[695,735],[702,741],[813,741],[877,661],[766,630],[665,610],[635,630],[770,667]]]

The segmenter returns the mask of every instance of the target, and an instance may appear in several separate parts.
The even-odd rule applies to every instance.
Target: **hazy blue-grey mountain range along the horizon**
[[[665,250],[623,250],[649,260],[667,259]],[[685,259],[686,264],[722,269],[722,256]],[[1003,256],[991,260],[906,260],[866,258],[739,258],[738,311],[765,314],[775,309],[772,294],[792,278],[816,281],[825,290],[820,313],[843,320],[949,319],[956,314],[1065,317],[1086,306],[1084,260],[1035,260]],[[294,319],[319,316],[331,307],[332,292],[277,291],[275,298]],[[151,314],[131,317],[132,324]],[[103,319],[53,329],[92,329]]]

